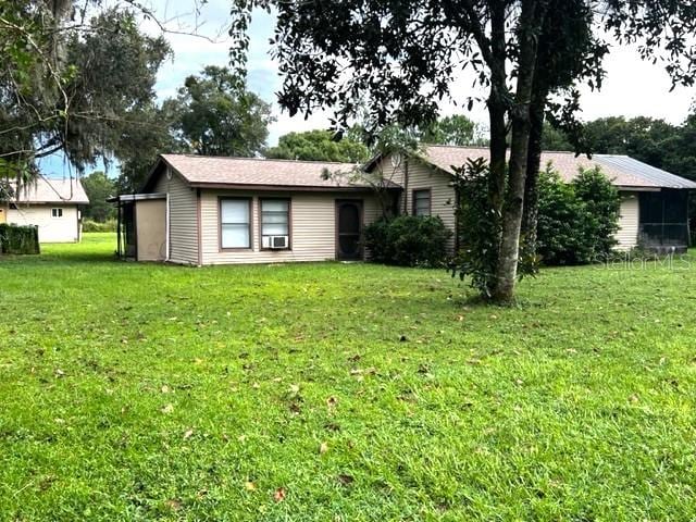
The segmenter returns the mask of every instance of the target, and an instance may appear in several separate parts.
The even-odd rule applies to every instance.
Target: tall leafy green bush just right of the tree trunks
[[[547,170],[538,189],[537,251],[545,264],[588,264],[611,256],[621,198],[599,169],[582,171],[570,184]]]

